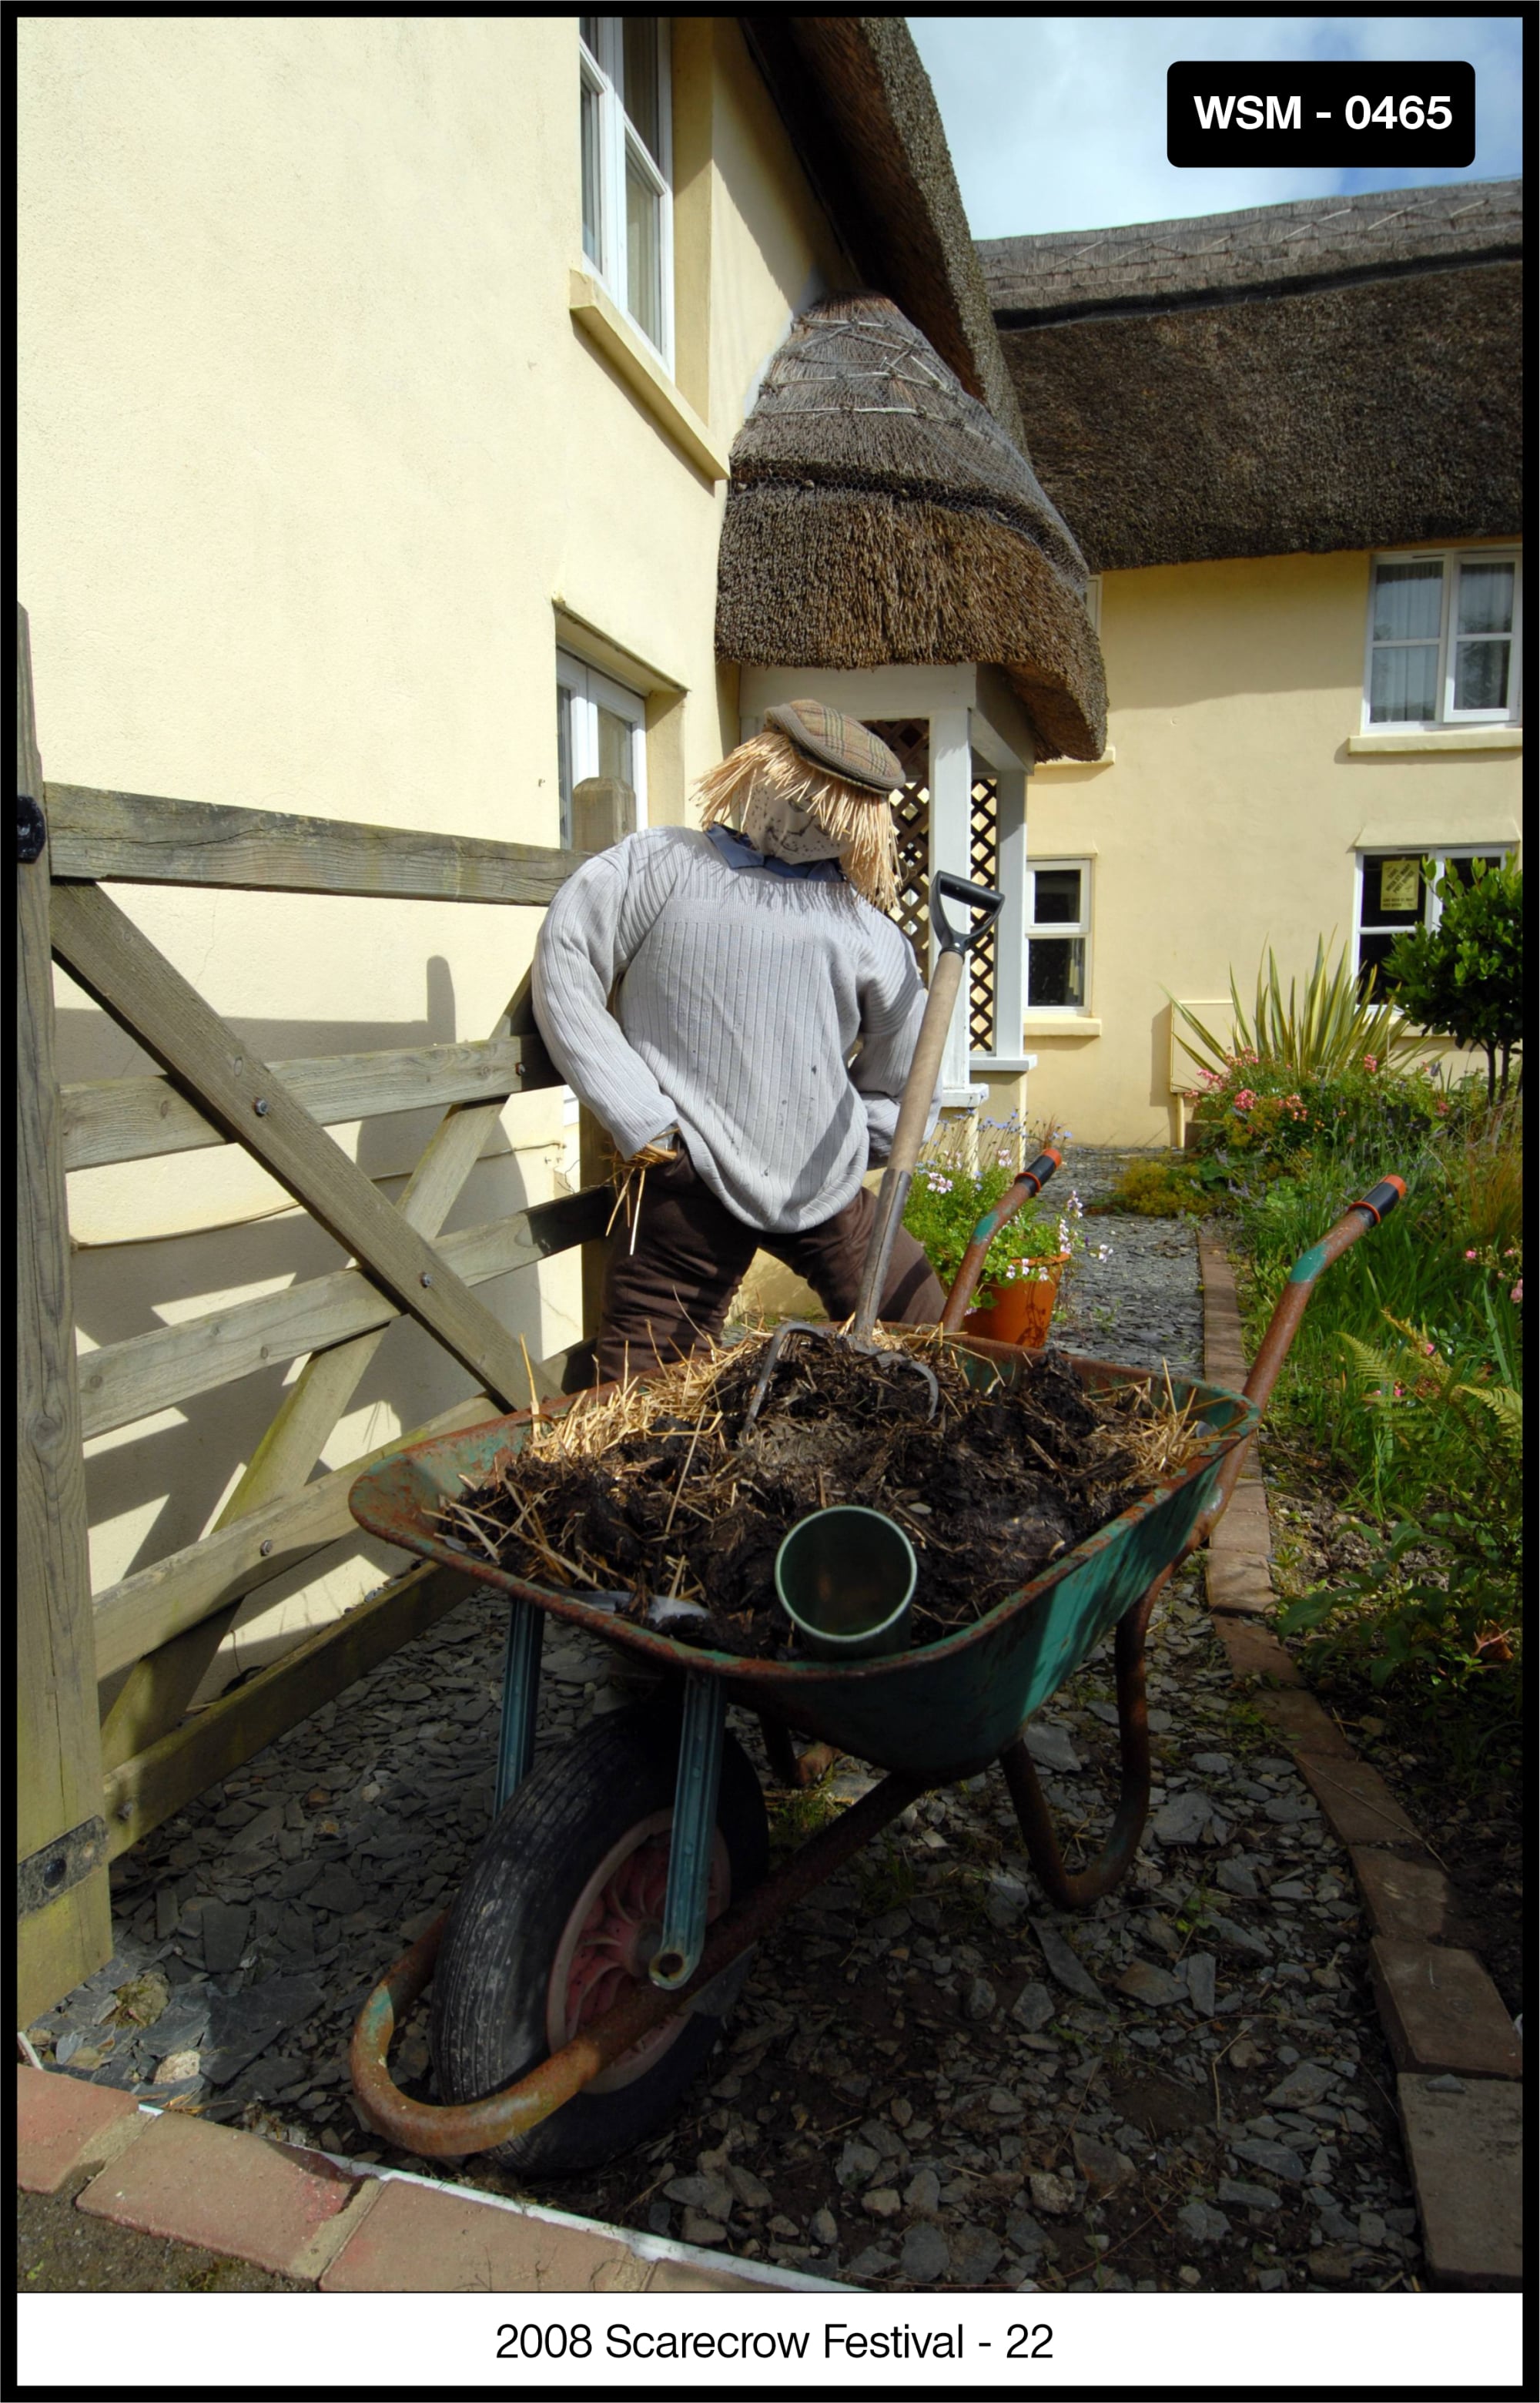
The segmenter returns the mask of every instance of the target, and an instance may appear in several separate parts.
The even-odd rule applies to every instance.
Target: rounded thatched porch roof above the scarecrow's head
[[[1086,562],[1023,454],[884,296],[793,324],[733,445],[723,658],[798,668],[987,661],[1040,757],[1105,740]]]

